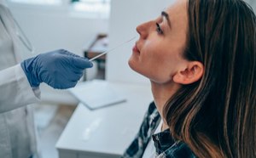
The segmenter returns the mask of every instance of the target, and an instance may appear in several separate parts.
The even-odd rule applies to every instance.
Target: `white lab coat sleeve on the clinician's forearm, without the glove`
[[[38,102],[40,90],[32,89],[20,65],[0,71],[0,113]]]

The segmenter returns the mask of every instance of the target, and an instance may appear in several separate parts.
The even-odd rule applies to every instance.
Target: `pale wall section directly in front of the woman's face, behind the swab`
[[[109,22],[109,47],[114,48],[131,37],[137,36],[136,26],[158,17],[172,0],[112,0]],[[107,55],[107,80],[116,82],[146,83],[148,79],[131,71],[127,64],[136,40],[115,49]]]

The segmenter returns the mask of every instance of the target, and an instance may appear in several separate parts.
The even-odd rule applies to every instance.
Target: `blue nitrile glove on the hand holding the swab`
[[[58,89],[74,87],[83,76],[84,69],[93,66],[88,59],[63,49],[39,54],[20,65],[31,87],[45,82]]]

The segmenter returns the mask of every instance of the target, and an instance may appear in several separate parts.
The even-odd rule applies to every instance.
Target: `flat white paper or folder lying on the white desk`
[[[115,92],[111,85],[104,80],[81,82],[69,90],[75,98],[79,99],[90,110],[96,110],[125,101],[125,97]]]

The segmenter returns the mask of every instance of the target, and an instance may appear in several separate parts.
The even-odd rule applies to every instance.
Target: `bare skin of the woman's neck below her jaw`
[[[154,104],[156,105],[157,110],[160,113],[160,116],[163,120],[163,126],[161,131],[168,128],[166,124],[166,119],[163,117],[163,109],[166,102],[172,97],[174,93],[180,88],[180,85],[177,83],[156,83],[151,81],[151,90],[154,97]]]

